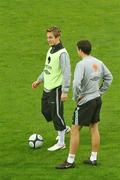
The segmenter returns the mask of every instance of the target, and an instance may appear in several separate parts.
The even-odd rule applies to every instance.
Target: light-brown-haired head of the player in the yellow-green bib
[[[47,41],[50,46],[60,43],[61,31],[58,27],[53,26],[47,29]]]

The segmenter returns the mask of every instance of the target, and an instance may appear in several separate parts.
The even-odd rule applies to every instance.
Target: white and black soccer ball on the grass
[[[43,145],[43,137],[40,134],[32,134],[28,140],[31,148],[39,148]]]

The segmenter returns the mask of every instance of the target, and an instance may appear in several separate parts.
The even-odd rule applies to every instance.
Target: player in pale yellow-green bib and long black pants
[[[32,83],[32,88],[37,88],[44,82],[44,91],[41,100],[42,114],[45,119],[53,121],[55,130],[58,131],[58,142],[48,151],[65,148],[65,133],[70,131],[64,121],[63,102],[68,98],[71,78],[70,59],[67,50],[63,47],[61,31],[53,26],[47,29],[47,41],[50,46],[45,61],[43,72]]]

